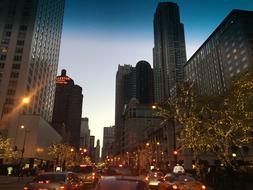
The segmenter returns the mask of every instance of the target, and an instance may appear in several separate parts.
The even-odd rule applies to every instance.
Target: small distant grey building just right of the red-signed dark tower
[[[87,117],[81,119],[80,148],[86,148],[87,150],[90,148],[90,129]]]

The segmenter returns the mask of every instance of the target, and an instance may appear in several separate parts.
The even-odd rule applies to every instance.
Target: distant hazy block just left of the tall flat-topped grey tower
[[[105,160],[107,156],[113,156],[114,130],[114,126],[104,127],[102,161]]]

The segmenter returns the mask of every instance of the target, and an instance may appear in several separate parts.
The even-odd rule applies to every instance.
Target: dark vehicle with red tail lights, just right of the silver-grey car
[[[95,185],[100,178],[100,175],[96,172],[96,169],[91,165],[81,164],[74,166],[72,172],[76,173],[81,178],[83,184]]]

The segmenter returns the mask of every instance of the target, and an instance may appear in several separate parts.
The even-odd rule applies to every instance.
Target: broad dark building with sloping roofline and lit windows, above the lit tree
[[[253,68],[253,12],[233,10],[185,65],[199,95],[222,95],[234,76]]]

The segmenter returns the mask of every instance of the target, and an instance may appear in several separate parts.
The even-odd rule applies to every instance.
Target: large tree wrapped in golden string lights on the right
[[[252,140],[252,100],[253,75],[247,73],[219,97],[197,97],[193,85],[183,85],[178,98],[166,101],[159,114],[163,122],[174,118],[180,124],[181,146],[192,150],[195,159],[212,152],[231,166],[232,152],[241,152]]]

